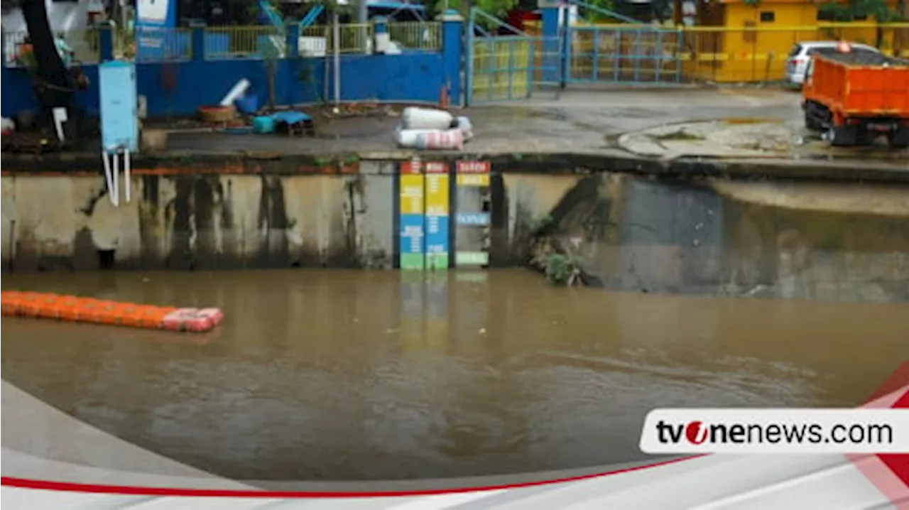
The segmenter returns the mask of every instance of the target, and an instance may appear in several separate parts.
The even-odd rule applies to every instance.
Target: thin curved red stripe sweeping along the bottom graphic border
[[[42,489],[47,491],[63,491],[77,493],[93,494],[110,494],[110,495],[158,495],[158,496],[195,496],[195,497],[269,497],[269,498],[298,498],[298,497],[395,497],[410,495],[444,495],[460,494],[469,492],[494,491],[501,489],[515,489],[520,487],[534,487],[539,485],[563,484],[565,482],[576,482],[579,480],[589,480],[600,476],[620,475],[622,473],[631,473],[650,469],[661,465],[671,465],[685,460],[691,460],[704,455],[693,455],[672,460],[657,462],[655,464],[638,465],[606,473],[595,473],[593,475],[572,476],[569,478],[559,478],[556,480],[542,480],[539,482],[527,482],[524,484],[511,485],[489,485],[481,487],[460,487],[455,489],[432,489],[425,491],[379,491],[379,492],[306,492],[306,491],[268,491],[268,490],[242,490],[242,489],[182,489],[172,487],[141,487],[127,485],[94,485],[94,484],[75,484],[70,482],[46,482],[44,480],[28,480],[25,478],[15,478],[12,476],[0,476],[0,486],[9,485],[24,489]]]

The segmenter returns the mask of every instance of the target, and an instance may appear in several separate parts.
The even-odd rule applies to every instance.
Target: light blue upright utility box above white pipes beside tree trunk
[[[112,61],[98,65],[101,90],[101,144],[107,153],[139,150],[135,64]]]

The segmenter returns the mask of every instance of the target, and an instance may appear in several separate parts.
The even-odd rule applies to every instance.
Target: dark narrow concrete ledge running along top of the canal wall
[[[454,162],[484,159],[495,165],[496,173],[595,174],[621,172],[663,177],[728,177],[761,180],[812,180],[840,182],[881,182],[909,184],[909,163],[856,162],[774,157],[719,158],[680,156],[655,159],[621,151],[591,153],[417,153],[415,151],[370,152],[363,155],[243,155],[167,154],[143,156],[134,161],[135,175],[357,175],[376,173],[361,168],[361,162],[407,161],[418,155],[423,160]],[[0,175],[100,175],[96,155],[3,155]],[[375,165],[369,165],[373,167]],[[387,173],[378,171],[377,173]]]

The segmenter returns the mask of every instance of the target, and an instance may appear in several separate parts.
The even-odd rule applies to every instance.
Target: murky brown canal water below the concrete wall
[[[644,459],[660,406],[858,405],[906,305],[568,289],[523,269],[3,275],[214,305],[207,335],[0,318],[3,378],[219,475],[354,480]]]

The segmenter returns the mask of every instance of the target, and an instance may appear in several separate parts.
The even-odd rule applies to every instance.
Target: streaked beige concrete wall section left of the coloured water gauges
[[[0,264],[16,271],[391,267],[393,172],[142,175],[111,204],[101,176],[0,177]],[[392,165],[394,166],[394,165]]]

